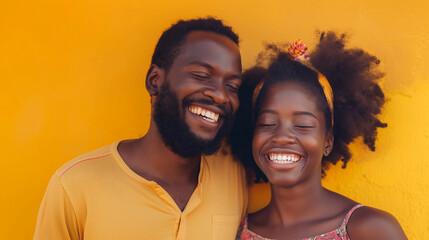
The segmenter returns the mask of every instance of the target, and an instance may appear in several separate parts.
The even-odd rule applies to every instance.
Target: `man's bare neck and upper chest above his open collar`
[[[186,158],[172,152],[156,128],[136,140],[123,141],[119,155],[128,167],[148,181],[155,181],[183,210],[198,185],[201,156]]]

